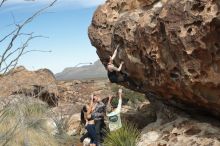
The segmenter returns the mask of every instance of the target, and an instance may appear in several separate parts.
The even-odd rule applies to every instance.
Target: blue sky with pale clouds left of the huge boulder
[[[88,26],[92,15],[99,4],[105,0],[58,0],[53,8],[38,16],[28,24],[23,32],[34,32],[49,38],[33,40],[28,49],[51,50],[51,53],[32,52],[19,60],[19,65],[29,70],[48,68],[54,73],[78,63],[94,62],[98,59],[96,49],[88,38]],[[4,36],[14,28],[13,21],[19,23],[31,16],[39,8],[45,7],[50,0],[8,0],[0,8],[0,36]],[[14,16],[14,19],[13,19]],[[19,39],[16,45],[22,43]],[[7,44],[0,44],[0,53]]]

